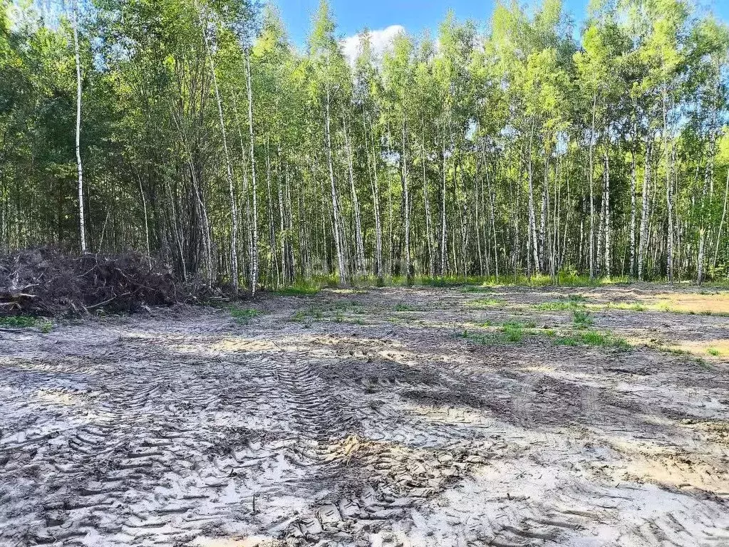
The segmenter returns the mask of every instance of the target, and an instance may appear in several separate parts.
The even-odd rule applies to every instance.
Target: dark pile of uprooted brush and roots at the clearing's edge
[[[195,302],[200,296],[196,293],[178,283],[171,269],[141,253],[77,256],[55,248],[34,248],[0,256],[3,315],[133,312]]]

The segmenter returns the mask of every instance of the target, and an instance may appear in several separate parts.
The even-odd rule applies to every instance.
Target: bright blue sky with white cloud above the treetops
[[[293,42],[302,46],[311,26],[319,0],[271,0],[278,4]],[[729,0],[699,0],[723,20],[729,20]],[[566,8],[579,25],[588,0],[565,0]],[[330,0],[337,20],[338,34],[352,36],[365,25],[371,30],[402,25],[409,32],[437,29],[449,8],[459,19],[486,21],[491,17],[493,0]]]

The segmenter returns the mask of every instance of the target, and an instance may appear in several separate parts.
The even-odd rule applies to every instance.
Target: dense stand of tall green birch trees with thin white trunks
[[[0,4],[0,246],[328,278],[725,280],[729,28],[496,2],[380,55],[246,0]]]

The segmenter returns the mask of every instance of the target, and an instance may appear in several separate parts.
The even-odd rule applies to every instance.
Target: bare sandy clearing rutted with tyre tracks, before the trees
[[[577,294],[634,347],[541,334]],[[373,288],[0,331],[0,545],[729,546],[729,318],[685,313],[727,300]],[[533,329],[459,336],[507,321]]]

